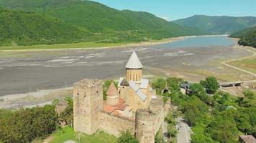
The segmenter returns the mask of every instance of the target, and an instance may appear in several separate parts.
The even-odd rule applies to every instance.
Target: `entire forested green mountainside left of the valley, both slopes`
[[[0,0],[0,5],[12,9],[1,10],[0,27],[4,33],[0,35],[1,45],[78,41],[116,43],[206,34],[147,12],[119,11],[93,1]]]

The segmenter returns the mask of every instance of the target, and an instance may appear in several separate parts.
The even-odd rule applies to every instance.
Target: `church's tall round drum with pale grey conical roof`
[[[132,52],[132,56],[125,67],[127,69],[127,81],[140,82],[143,66],[135,51]]]

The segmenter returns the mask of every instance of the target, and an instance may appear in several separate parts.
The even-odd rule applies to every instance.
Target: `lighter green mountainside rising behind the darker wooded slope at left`
[[[206,34],[179,26],[147,12],[119,11],[93,1],[81,0],[0,0],[4,9],[33,11],[55,17],[88,31],[86,41],[148,41],[173,36]]]

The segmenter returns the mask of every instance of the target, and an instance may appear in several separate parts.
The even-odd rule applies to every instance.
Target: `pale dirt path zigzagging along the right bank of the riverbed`
[[[250,51],[250,52],[252,53],[252,55],[250,55],[250,56],[244,56],[244,57],[239,58],[239,59],[229,59],[229,60],[227,60],[227,61],[222,62],[221,64],[224,64],[225,66],[229,66],[229,67],[232,68],[232,69],[237,69],[237,70],[239,70],[239,71],[246,72],[247,74],[251,74],[253,77],[256,77],[256,74],[255,74],[255,73],[252,73],[252,72],[250,72],[250,71],[247,71],[247,70],[238,68],[238,67],[236,67],[236,66],[232,66],[232,65],[230,65],[230,64],[227,64],[227,63],[229,63],[229,62],[231,62],[231,61],[238,61],[238,60],[242,60],[242,59],[249,59],[249,58],[252,58],[252,57],[256,56],[256,52],[253,51],[253,50],[251,50],[251,49],[244,49],[244,48],[241,48],[240,46],[238,46],[237,48],[243,49],[243,50],[246,50],[246,51]],[[244,82],[246,82],[246,81],[244,81]],[[250,82],[252,82],[252,81],[250,81]]]

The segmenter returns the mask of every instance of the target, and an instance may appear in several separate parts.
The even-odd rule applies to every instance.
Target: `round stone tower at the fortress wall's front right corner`
[[[135,137],[140,143],[154,143],[155,129],[154,129],[155,115],[150,109],[138,109],[135,119]]]

